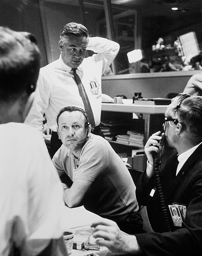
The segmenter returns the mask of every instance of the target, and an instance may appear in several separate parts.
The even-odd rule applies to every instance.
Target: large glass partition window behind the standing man
[[[119,42],[120,52],[115,59],[116,72],[111,67],[104,76],[145,73],[148,73],[146,76],[153,76],[154,73],[175,74],[202,69],[201,0],[130,0],[128,6],[120,4],[123,2],[121,0],[111,0],[112,4],[107,8],[110,8],[113,24],[109,24],[106,19],[105,1],[110,2],[39,1],[43,10],[41,13],[48,62],[58,58],[58,36],[62,25],[75,21],[84,24],[92,36],[114,38]],[[141,4],[135,6],[134,2]],[[171,3],[183,8],[171,10]],[[113,28],[110,36],[107,29],[109,26]],[[129,63],[127,53],[134,49],[140,49],[143,58]],[[91,54],[88,52],[87,56]]]

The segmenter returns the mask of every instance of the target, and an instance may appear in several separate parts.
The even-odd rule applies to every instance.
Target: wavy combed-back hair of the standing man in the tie
[[[82,24],[70,22],[67,23],[60,32],[60,39],[65,39],[69,35],[75,35],[78,37],[89,37],[88,29]]]

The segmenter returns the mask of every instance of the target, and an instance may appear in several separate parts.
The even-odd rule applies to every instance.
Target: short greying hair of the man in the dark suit
[[[179,93],[172,100],[172,114],[190,136],[202,138],[202,96]]]

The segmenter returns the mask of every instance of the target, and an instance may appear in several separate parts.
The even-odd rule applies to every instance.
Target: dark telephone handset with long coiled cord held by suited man
[[[161,131],[161,135],[164,131]],[[161,144],[162,148],[163,148],[163,143],[164,143],[164,139],[162,139],[161,141],[159,141],[159,143]],[[168,230],[168,232],[171,232],[171,227],[170,227],[170,222],[169,222],[169,218],[168,218],[168,212],[167,212],[167,208],[166,208],[166,204],[165,204],[165,199],[164,199],[164,195],[163,195],[163,191],[161,188],[161,181],[160,181],[160,177],[159,177],[159,171],[161,168],[161,158],[162,158],[162,151],[161,151],[161,157],[160,160],[158,159],[158,153],[153,151],[153,164],[154,164],[154,176],[155,176],[155,182],[156,182],[156,188],[159,192],[159,199],[160,199],[160,204],[161,204],[161,209],[162,209],[162,216],[164,219],[164,223],[165,226]]]

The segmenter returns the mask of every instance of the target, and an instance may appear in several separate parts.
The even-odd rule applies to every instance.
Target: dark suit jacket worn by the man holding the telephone
[[[147,206],[151,227],[155,233],[137,234],[145,255],[202,255],[202,144],[194,151],[176,176],[177,151],[174,149],[160,173],[162,190],[172,232],[166,232],[159,194],[150,197],[154,177],[144,183],[141,175],[136,189],[138,203]],[[186,204],[182,227],[175,227],[168,205]]]

